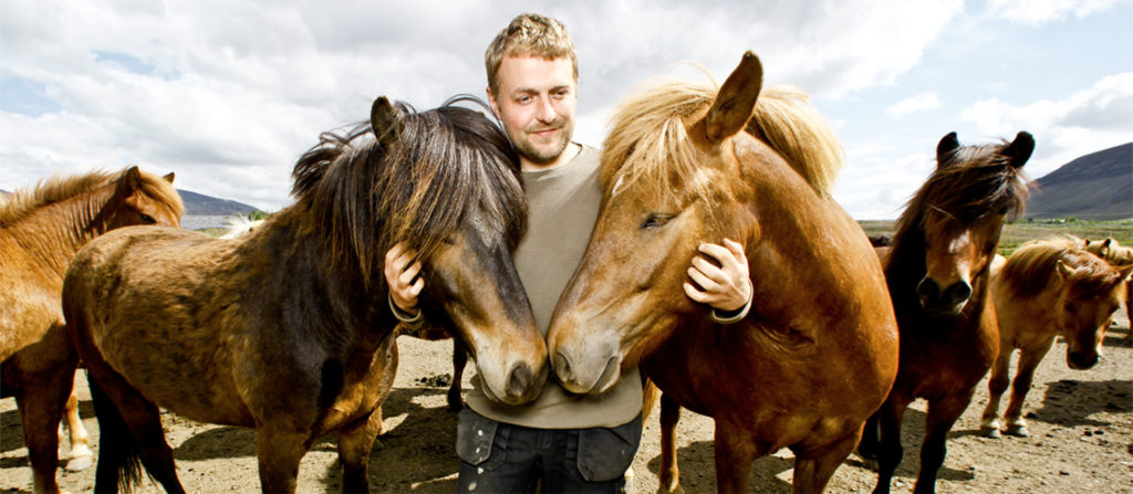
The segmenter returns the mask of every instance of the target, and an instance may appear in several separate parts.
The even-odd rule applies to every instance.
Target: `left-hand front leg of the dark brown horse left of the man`
[[[265,493],[293,493],[299,478],[299,461],[310,449],[313,441],[310,431],[296,431],[288,424],[264,424],[257,428],[256,456],[259,458],[261,489]],[[346,478],[343,480],[346,488]]]

